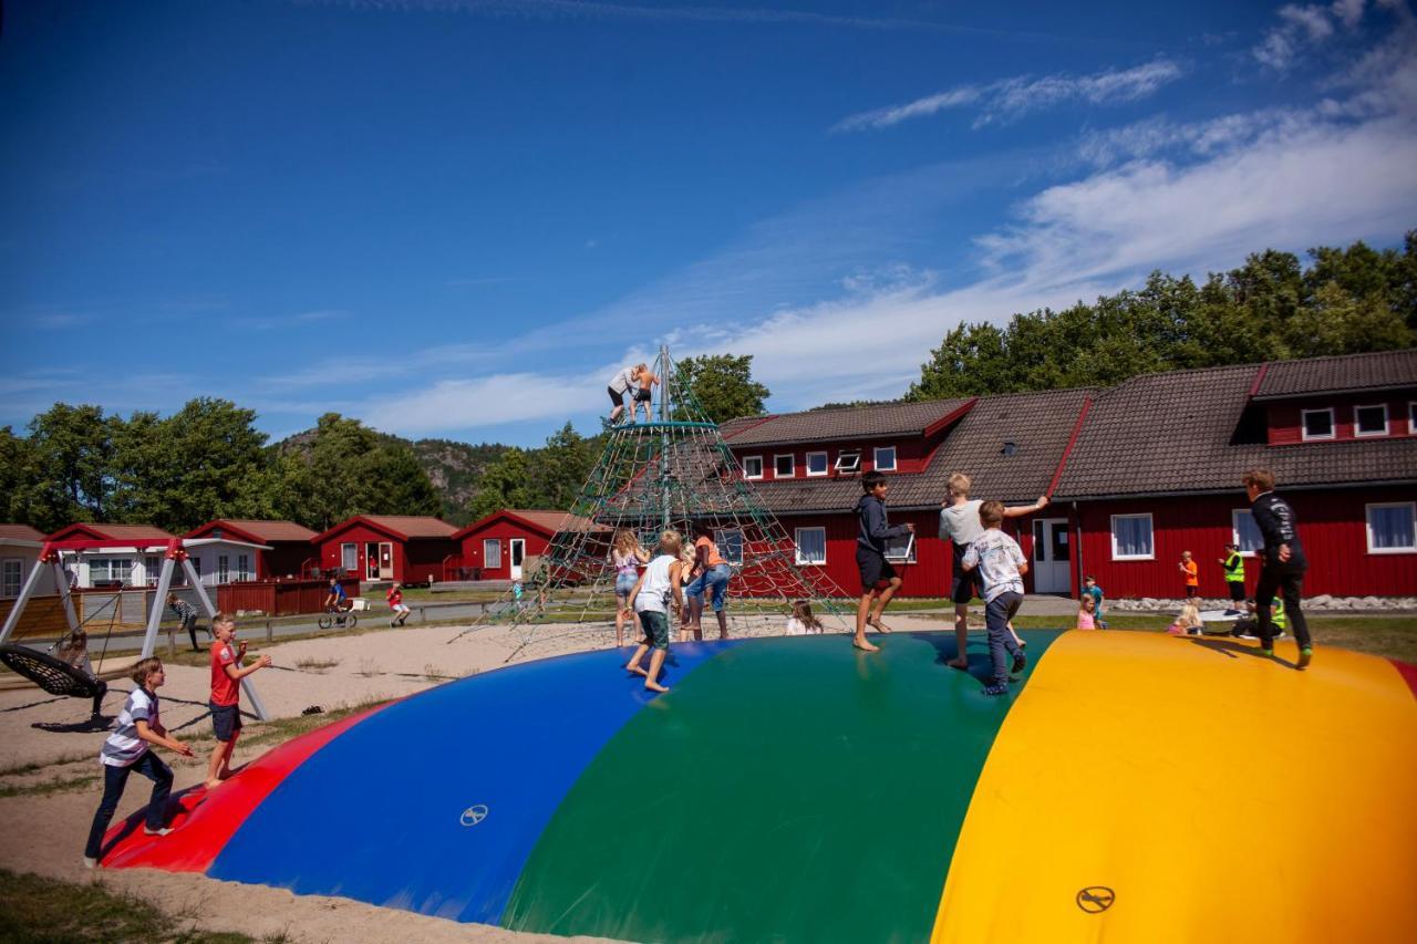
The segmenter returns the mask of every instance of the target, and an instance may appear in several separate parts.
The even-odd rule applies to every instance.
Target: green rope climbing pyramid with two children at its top
[[[662,347],[655,361],[662,395],[650,422],[612,427],[585,485],[523,584],[507,591],[461,638],[479,626],[512,626],[516,646],[567,635],[614,639],[615,567],[611,541],[629,529],[650,553],[663,530],[691,544],[707,526],[733,568],[730,635],[781,635],[794,601],[812,604],[829,631],[847,631],[846,592],[820,568],[798,564],[788,530],[743,476],[733,452]],[[638,626],[632,628],[638,639]],[[711,619],[707,634],[717,634]]]

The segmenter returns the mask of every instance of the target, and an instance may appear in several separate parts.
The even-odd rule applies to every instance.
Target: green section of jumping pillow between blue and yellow
[[[1036,665],[1056,632],[1027,632]],[[750,641],[646,706],[581,774],[502,924],[631,941],[920,941],[1017,690],[954,634]],[[985,675],[982,636],[971,645]],[[1030,665],[1030,670],[1032,670]]]

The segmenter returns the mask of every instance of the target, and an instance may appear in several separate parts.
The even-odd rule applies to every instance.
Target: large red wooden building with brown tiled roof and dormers
[[[942,595],[949,553],[938,509],[954,472],[973,498],[1044,512],[1006,522],[1034,592],[1178,597],[1182,550],[1202,592],[1224,595],[1216,560],[1257,543],[1241,473],[1268,468],[1299,517],[1309,595],[1417,594],[1417,352],[1170,371],[1108,390],[813,410],[734,420],[723,435],[798,563],[857,590],[859,475],[891,479],[891,520],[913,522],[894,556],[903,594]],[[720,544],[730,544],[720,541]],[[1250,590],[1257,567],[1247,568]]]

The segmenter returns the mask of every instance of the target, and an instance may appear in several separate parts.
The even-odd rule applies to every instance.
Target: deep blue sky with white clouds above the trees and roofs
[[[614,370],[904,393],[961,320],[1417,227],[1406,0],[6,6],[0,424],[537,445]]]

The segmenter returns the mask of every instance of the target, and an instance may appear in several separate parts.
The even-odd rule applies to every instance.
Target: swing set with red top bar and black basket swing
[[[14,601],[14,607],[11,607],[10,614],[6,617],[4,626],[0,628],[0,662],[17,675],[34,682],[50,695],[92,699],[99,690],[99,676],[109,675],[109,672],[101,670],[98,673],[89,673],[55,655],[50,655],[50,652],[10,642],[10,636],[14,635],[16,628],[20,625],[26,604],[28,604],[34,597],[34,591],[40,585],[40,578],[43,577],[45,568],[48,568],[54,574],[54,585],[58,587],[60,601],[64,608],[64,618],[68,622],[68,632],[62,634],[60,639],[50,646],[51,652],[57,651],[58,646],[67,639],[74,639],[79,634],[84,634],[85,624],[101,617],[108,607],[113,607],[113,612],[109,615],[108,632],[103,635],[103,651],[99,656],[99,666],[102,666],[103,656],[108,655],[109,638],[113,635],[113,626],[118,624],[118,614],[122,608],[119,602],[122,600],[122,592],[115,591],[111,601],[105,602],[95,612],[85,615],[84,619],[79,619],[74,609],[74,595],[69,592],[68,574],[65,574],[60,561],[60,551],[75,551],[78,554],[84,554],[85,551],[96,550],[112,551],[113,541],[69,539],[57,543],[45,543],[40,551],[38,560],[34,563],[34,567],[30,568],[30,575],[26,578],[24,587],[20,590],[20,595]],[[213,605],[211,597],[207,594],[207,588],[201,585],[201,577],[197,574],[197,568],[193,567],[191,561],[187,558],[184,539],[174,537],[162,544],[139,546],[133,550],[137,553],[163,554],[162,571],[157,577],[157,587],[153,592],[153,605],[147,612],[143,648],[137,656],[139,659],[146,659],[153,655],[153,651],[157,648],[157,625],[162,622],[167,592],[171,590],[173,574],[179,567],[181,567],[183,574],[187,577],[187,585],[197,594],[197,600],[208,619],[217,615],[217,608]],[[112,672],[120,673],[120,670]],[[262,704],[261,696],[256,693],[255,685],[252,685],[251,679],[241,679],[241,687],[245,690],[247,699],[249,700],[256,717],[262,721],[266,720],[265,706]]]

